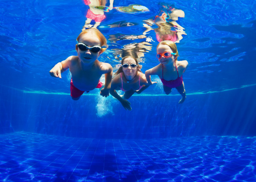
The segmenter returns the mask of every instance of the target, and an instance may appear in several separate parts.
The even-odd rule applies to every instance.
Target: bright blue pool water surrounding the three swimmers
[[[0,1],[0,181],[256,181],[255,1],[113,5],[129,4],[149,11],[105,12],[98,29],[109,47],[99,60],[115,72],[120,52],[132,45],[140,47],[142,72],[156,66],[154,30],[146,34],[151,41],[122,37],[143,35],[145,20],[163,4],[181,9],[177,23],[187,35],[177,43],[178,60],[189,63],[183,104],[154,76],[157,84],[129,99],[132,111],[97,89],[72,100],[70,72],[57,79],[49,70],[76,55],[88,6]]]

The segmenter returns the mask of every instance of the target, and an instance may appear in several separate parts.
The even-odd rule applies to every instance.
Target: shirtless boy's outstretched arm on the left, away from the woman
[[[66,71],[69,68],[69,64],[72,60],[72,56],[69,56],[66,60],[57,63],[51,70],[50,75],[53,77],[61,78],[61,73]]]

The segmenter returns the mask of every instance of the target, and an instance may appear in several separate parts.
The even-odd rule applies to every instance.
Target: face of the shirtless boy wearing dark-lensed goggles
[[[101,46],[101,42],[98,36],[91,32],[83,34],[78,41],[79,43],[84,43],[87,47]],[[99,55],[102,53],[102,51],[93,52],[89,49],[82,51],[79,48],[76,51],[78,54],[78,58],[85,64],[95,62],[95,60],[97,60]]]

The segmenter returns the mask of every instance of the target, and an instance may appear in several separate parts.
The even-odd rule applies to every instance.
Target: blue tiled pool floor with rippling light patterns
[[[256,137],[0,135],[0,181],[256,181]]]

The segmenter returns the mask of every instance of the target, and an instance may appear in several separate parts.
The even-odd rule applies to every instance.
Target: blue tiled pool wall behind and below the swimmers
[[[183,104],[176,95],[132,96],[132,111],[112,96],[83,95],[74,101],[69,95],[0,88],[0,134],[25,131],[99,139],[256,136],[256,86],[187,95]]]

